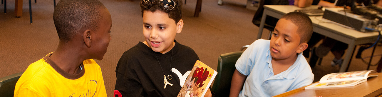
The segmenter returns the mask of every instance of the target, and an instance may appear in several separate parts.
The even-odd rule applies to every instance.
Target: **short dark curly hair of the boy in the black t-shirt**
[[[142,17],[143,17],[143,11],[151,11],[153,13],[155,11],[162,11],[162,12],[168,14],[168,18],[175,20],[175,24],[178,23],[180,21],[180,19],[182,19],[183,2],[182,2],[182,0],[173,0],[173,1],[176,3],[176,5],[175,5],[174,9],[172,9],[172,10],[164,9],[163,3],[160,0],[154,0],[154,2],[149,3],[147,6],[143,6],[142,1],[141,1],[141,3],[139,3],[139,4],[141,5]]]

